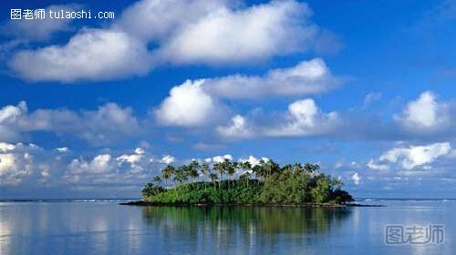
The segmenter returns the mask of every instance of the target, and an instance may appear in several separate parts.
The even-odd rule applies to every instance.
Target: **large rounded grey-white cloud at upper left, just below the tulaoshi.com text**
[[[124,32],[86,29],[65,46],[19,51],[9,66],[30,81],[106,80],[147,73],[150,56],[142,42]]]

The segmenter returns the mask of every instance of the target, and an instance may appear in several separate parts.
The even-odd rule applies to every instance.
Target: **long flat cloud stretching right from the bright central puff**
[[[340,83],[325,61],[314,58],[296,66],[272,69],[264,76],[225,76],[205,79],[202,87],[213,97],[233,99],[321,94]]]

